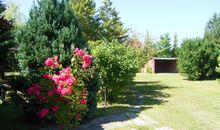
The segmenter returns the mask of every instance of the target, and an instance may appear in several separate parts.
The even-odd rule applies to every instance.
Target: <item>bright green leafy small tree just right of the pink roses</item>
[[[113,101],[139,70],[136,51],[115,41],[102,43],[92,51],[96,57],[101,89],[106,91],[107,100]]]

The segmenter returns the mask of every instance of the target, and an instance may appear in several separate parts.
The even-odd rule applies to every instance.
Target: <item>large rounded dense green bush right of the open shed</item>
[[[179,50],[178,69],[190,80],[210,78],[217,65],[217,46],[203,39],[186,39]]]

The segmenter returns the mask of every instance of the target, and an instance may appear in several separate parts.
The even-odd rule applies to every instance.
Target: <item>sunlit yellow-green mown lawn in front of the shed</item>
[[[220,84],[216,80],[188,81],[179,74],[137,74],[134,82],[144,94],[144,108],[139,114],[159,123],[148,128],[220,130]]]

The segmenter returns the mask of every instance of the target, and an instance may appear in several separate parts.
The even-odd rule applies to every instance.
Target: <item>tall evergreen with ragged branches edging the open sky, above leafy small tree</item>
[[[108,42],[116,39],[121,43],[127,39],[128,35],[126,35],[126,33],[128,29],[124,28],[111,0],[103,1],[103,5],[99,9],[99,18],[102,39]]]

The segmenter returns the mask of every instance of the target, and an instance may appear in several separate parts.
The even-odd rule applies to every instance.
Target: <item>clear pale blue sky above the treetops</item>
[[[32,0],[5,0],[19,5],[28,16]],[[102,0],[95,0],[97,7]],[[212,15],[220,12],[220,0],[112,0],[125,27],[139,34],[158,39],[161,34],[176,32],[179,41],[183,38],[201,37]]]

